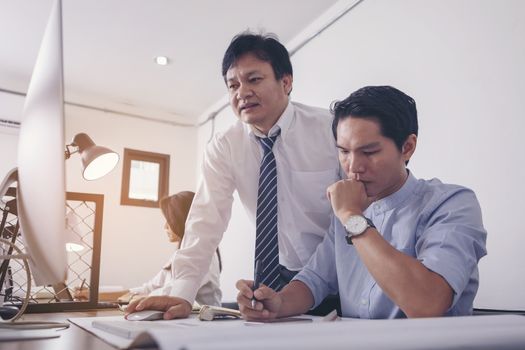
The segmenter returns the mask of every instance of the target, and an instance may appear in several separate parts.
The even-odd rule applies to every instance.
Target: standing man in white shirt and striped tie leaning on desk
[[[234,191],[256,224],[255,255],[266,285],[288,283],[330,226],[325,191],[340,178],[331,117],[289,101],[293,72],[286,48],[272,37],[241,34],[226,50],[222,74],[239,121],[206,149],[170,295],[134,302],[128,312],[189,315],[228,226]]]

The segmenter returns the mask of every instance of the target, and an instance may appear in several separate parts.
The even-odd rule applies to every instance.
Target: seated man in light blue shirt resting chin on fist
[[[337,102],[333,133],[347,179],[328,187],[335,217],[306,267],[282,291],[238,281],[247,319],[301,314],[339,292],[343,316],[468,315],[486,232],[474,193],[407,168],[417,144],[412,98],[389,86]],[[251,299],[258,302],[254,308]]]

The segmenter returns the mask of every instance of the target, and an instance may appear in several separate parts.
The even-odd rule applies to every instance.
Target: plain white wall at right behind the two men
[[[328,107],[386,84],[415,98],[420,137],[410,168],[471,187],[481,202],[489,254],[476,307],[525,309],[523,13],[519,0],[365,0],[292,59],[297,101]],[[234,120],[221,113],[218,129]],[[202,128],[200,150],[208,137]],[[251,275],[253,256],[253,227],[239,205],[232,218],[221,244],[232,259],[222,280],[227,297],[236,279]]]

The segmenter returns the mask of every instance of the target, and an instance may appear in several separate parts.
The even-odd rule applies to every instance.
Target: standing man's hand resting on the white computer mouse
[[[191,313],[191,304],[182,298],[170,296],[146,297],[134,300],[126,308],[126,316],[132,312],[142,310],[164,311],[164,319],[186,318]]]

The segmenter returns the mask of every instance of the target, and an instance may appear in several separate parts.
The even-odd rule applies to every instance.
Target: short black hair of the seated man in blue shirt
[[[394,141],[401,151],[410,134],[417,136],[417,110],[414,99],[392,86],[366,86],[330,107],[334,119],[332,132],[337,140],[340,120],[370,118],[380,125],[381,134]]]

